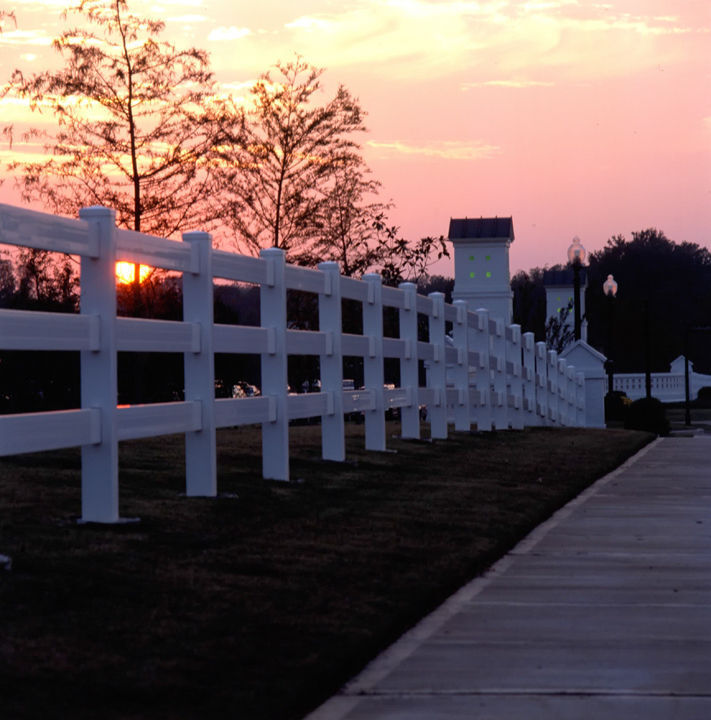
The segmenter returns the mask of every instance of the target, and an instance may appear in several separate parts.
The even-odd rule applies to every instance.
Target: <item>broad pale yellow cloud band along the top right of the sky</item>
[[[675,15],[619,8],[582,0],[351,0],[337,11],[285,19],[273,42],[320,66],[357,64],[396,81],[464,71],[483,83],[496,67],[502,83],[522,74],[557,82],[631,74],[660,57],[685,62],[688,49],[674,38],[704,32]],[[268,42],[250,47],[265,53]]]

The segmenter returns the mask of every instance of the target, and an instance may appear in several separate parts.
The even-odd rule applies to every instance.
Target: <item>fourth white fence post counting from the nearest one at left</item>
[[[319,263],[325,292],[318,296],[319,330],[326,333],[326,353],[320,357],[321,392],[329,393],[329,413],[321,417],[321,454],[324,460],[346,459],[343,417],[343,322],[341,273],[338,263]]]

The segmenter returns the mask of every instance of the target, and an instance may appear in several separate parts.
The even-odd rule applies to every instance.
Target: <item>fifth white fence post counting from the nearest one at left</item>
[[[374,407],[365,412],[366,450],[385,450],[385,367],[383,365],[383,279],[366,273],[368,299],[363,303],[363,335],[368,355],[363,358],[363,380],[373,393]]]

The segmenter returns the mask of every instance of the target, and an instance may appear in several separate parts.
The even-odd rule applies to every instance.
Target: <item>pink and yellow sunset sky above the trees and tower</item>
[[[1,80],[55,64],[66,0],[3,7],[17,29],[0,35]],[[512,271],[563,261],[574,235],[596,250],[657,227],[711,249],[709,0],[130,7],[208,50],[235,93],[294,53],[325,67],[322,100],[342,83],[368,112],[364,155],[407,238],[446,235],[450,217],[512,215]],[[3,125],[27,119],[17,106],[0,112]],[[0,201],[17,201],[9,183]]]

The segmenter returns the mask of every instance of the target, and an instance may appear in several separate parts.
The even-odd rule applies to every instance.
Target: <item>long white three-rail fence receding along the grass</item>
[[[0,310],[0,350],[75,350],[81,355],[81,408],[0,416],[0,456],[81,446],[82,518],[119,520],[118,443],[185,433],[186,492],[217,492],[217,428],[261,423],[263,475],[289,478],[289,421],[320,418],[323,457],[345,459],[344,415],[365,417],[365,445],[386,449],[385,411],[400,408],[402,436],[420,435],[426,406],[433,438],[457,430],[525,425],[583,425],[581,373],[505,327],[485,310],[447,305],[441,293],[416,294],[411,283],[384,287],[379,275],[343,277],[336,263],[318,270],[287,265],[282,251],[259,258],[211,247],[207,233],[165,240],[115,226],[115,214],[85,208],[79,220],[0,205],[0,243],[70,253],[81,259],[80,314]],[[183,321],[116,316],[115,263],[125,260],[183,276]],[[261,326],[213,323],[215,279],[260,287]],[[289,330],[287,289],[318,295],[319,330]],[[363,334],[342,331],[341,300],[362,303]],[[383,307],[397,308],[400,337],[383,336]],[[429,342],[418,341],[418,314]],[[445,336],[445,323],[452,326]],[[117,407],[117,352],[183,353],[185,400]],[[260,397],[215,399],[214,354],[261,357]],[[288,392],[287,356],[320,358],[321,391]],[[343,389],[343,357],[362,357],[361,390]],[[384,385],[384,358],[400,362],[401,387]],[[419,386],[418,362],[427,366]]]

